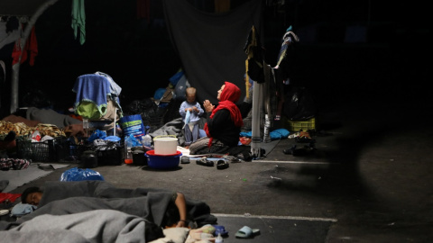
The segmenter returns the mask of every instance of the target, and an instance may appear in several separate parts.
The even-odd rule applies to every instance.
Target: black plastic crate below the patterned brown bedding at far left
[[[17,157],[32,159],[34,162],[57,162],[69,156],[69,141],[65,137],[32,142],[16,140]]]

